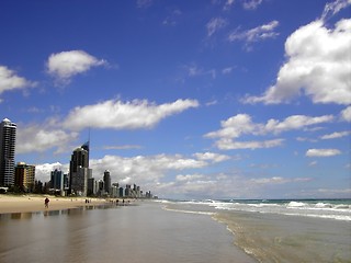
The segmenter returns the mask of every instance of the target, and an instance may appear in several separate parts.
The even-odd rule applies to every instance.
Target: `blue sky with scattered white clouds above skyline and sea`
[[[351,197],[351,0],[2,0],[0,118],[36,179]]]

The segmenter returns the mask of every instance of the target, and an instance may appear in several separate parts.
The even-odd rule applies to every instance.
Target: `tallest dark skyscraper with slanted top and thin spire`
[[[87,196],[88,180],[92,178],[89,169],[89,147],[86,145],[73,150],[69,163],[69,190],[71,194]]]

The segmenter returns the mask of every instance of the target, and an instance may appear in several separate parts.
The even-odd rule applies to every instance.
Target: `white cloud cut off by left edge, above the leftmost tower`
[[[35,82],[19,77],[13,70],[5,66],[0,66],[0,94],[10,90],[20,90],[34,87]]]

